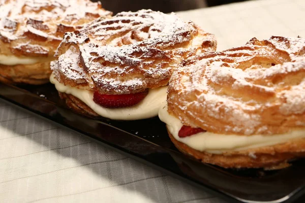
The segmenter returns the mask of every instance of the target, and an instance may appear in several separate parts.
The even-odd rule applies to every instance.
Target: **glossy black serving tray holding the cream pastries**
[[[66,108],[51,84],[0,83],[0,98],[229,202],[293,202],[305,194],[304,160],[278,171],[226,170],[180,153],[157,117],[114,121],[83,116]]]

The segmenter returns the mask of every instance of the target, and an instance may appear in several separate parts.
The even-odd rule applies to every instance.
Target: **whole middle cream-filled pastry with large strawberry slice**
[[[215,49],[214,35],[175,14],[122,12],[66,33],[50,80],[67,105],[81,113],[150,118],[158,115],[176,67]]]

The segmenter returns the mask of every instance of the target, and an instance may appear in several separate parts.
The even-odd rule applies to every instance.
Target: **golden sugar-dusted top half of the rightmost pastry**
[[[277,134],[305,127],[305,39],[253,38],[185,61],[168,88],[168,112],[225,134]]]

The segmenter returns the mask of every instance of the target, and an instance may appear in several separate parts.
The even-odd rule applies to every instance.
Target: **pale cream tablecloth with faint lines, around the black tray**
[[[218,50],[271,35],[305,36],[303,0],[260,0],[178,13]],[[225,202],[0,102],[0,202]]]

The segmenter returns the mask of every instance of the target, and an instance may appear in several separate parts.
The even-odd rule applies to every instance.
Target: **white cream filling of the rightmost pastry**
[[[166,101],[163,103],[162,108],[159,111],[159,118],[166,123],[168,130],[177,141],[198,151],[206,151],[213,154],[272,146],[293,139],[305,138],[305,129],[294,130],[289,133],[276,134],[273,136],[263,136],[261,134],[240,136],[236,134],[200,132],[190,137],[179,138],[178,132],[183,124],[176,117],[169,115],[167,112]]]

